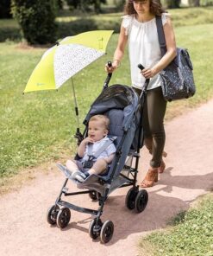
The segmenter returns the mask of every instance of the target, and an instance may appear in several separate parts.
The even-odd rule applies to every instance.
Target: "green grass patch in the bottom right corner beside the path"
[[[213,195],[205,196],[197,208],[191,208],[182,217],[175,227],[166,229],[166,232],[147,236],[145,240],[151,243],[153,255],[212,256]],[[147,252],[146,255],[150,254]]]

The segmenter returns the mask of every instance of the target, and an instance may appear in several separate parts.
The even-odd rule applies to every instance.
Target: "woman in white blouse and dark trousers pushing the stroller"
[[[145,144],[152,154],[149,170],[141,182],[141,187],[147,188],[158,181],[158,173],[166,168],[162,160],[162,156],[166,157],[164,152],[166,100],[162,95],[159,73],[176,56],[176,43],[171,19],[162,9],[160,0],[128,0],[124,11],[126,16],[123,16],[112,67],[106,65],[105,69],[108,73],[112,73],[121,65],[128,42],[133,88],[140,94],[144,81],[150,79],[143,109]],[[161,16],[166,37],[167,51],[163,57],[160,54],[155,16]],[[139,63],[146,68],[141,71],[137,67]]]

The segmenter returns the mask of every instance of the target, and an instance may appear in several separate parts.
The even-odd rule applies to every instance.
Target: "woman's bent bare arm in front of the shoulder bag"
[[[158,74],[164,69],[176,56],[176,42],[175,35],[172,28],[172,22],[170,18],[166,18],[166,24],[163,26],[166,39],[166,54],[160,59],[160,61],[152,68],[145,68],[141,74],[145,78],[151,78],[155,74]]]

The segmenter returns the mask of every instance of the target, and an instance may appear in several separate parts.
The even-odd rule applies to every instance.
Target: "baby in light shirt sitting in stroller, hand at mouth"
[[[67,160],[66,168],[72,173],[70,176],[78,182],[84,182],[91,174],[103,174],[112,162],[116,147],[107,137],[110,119],[104,115],[95,115],[90,118],[88,137],[78,147],[79,160]],[[103,146],[105,144],[105,148]],[[94,159],[94,154],[100,150],[99,156]]]

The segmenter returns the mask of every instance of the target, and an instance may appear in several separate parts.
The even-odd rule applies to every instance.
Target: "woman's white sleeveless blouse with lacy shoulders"
[[[166,23],[166,13],[162,14],[163,25]],[[141,63],[144,67],[153,67],[161,59],[160,44],[155,17],[148,22],[138,22],[135,15],[123,16],[122,27],[128,35],[128,55],[131,69],[132,86],[141,88],[145,78],[137,67]],[[150,79],[147,90],[161,85],[160,75]]]

